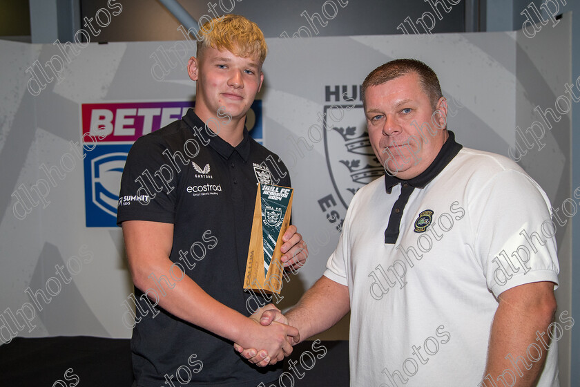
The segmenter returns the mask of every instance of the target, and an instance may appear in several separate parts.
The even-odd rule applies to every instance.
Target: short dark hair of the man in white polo
[[[439,79],[432,68],[417,59],[394,59],[372,70],[365,78],[363,88],[360,91],[363,101],[367,87],[378,86],[409,73],[416,73],[419,76],[421,88],[429,97],[433,110],[435,110],[437,102],[443,97]]]

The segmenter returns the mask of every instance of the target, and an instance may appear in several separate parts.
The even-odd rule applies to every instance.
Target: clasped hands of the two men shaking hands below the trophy
[[[245,340],[233,348],[256,366],[276,364],[292,353],[292,346],[300,342],[300,332],[289,325],[288,319],[273,304],[264,305],[249,317],[256,329],[244,334]],[[254,333],[255,332],[255,333]]]

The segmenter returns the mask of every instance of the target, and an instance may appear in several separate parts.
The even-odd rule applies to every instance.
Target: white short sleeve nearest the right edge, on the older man
[[[555,230],[541,187],[525,173],[508,169],[480,187],[473,199],[468,213],[474,253],[493,294],[539,281],[557,285]]]

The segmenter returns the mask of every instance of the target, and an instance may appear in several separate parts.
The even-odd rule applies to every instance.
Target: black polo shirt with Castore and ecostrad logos
[[[171,261],[214,299],[247,316],[249,293],[243,291],[243,282],[258,181],[290,187],[288,170],[278,156],[250,138],[246,129],[242,142],[232,147],[190,109],[182,120],[131,147],[117,224],[173,223]],[[179,278],[164,280],[153,290],[171,292],[168,287]],[[142,294],[135,288],[137,300]],[[137,305],[131,348],[139,386],[166,385],[165,375],[173,375],[175,386],[254,387],[278,379],[280,366],[252,366],[233,350],[231,341],[155,308],[160,312],[153,317],[144,300]],[[201,370],[195,361],[202,362]]]

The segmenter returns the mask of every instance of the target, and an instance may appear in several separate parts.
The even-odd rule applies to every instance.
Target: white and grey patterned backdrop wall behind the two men
[[[398,57],[422,59],[438,73],[450,104],[448,127],[458,142],[503,155],[514,146],[516,126],[525,130],[539,120],[534,106],[554,108],[564,84],[575,82],[569,20],[533,41],[519,32],[492,32],[268,39],[268,44],[252,132],[291,171],[293,223],[310,249],[307,265],[284,285],[281,307],[296,302],[320,277],[354,191],[380,171],[365,142],[360,102],[359,85],[370,70]],[[193,45],[89,44],[75,55],[50,44],[0,41],[0,50],[1,337],[130,337],[122,303],[133,285],[122,232],[113,223],[87,224],[99,216],[103,224],[113,219],[109,207],[115,198],[107,194],[114,187],[118,192],[122,154],[143,127],[158,128],[195,99],[195,84],[184,69]],[[55,57],[64,69],[60,79],[49,81],[52,73],[43,64],[52,60],[58,68]],[[30,80],[32,70],[37,80]],[[125,111],[127,121],[124,126],[119,121],[118,132],[104,142],[87,141],[83,149],[90,108],[160,110],[155,117],[150,111],[149,124],[146,113],[131,121],[131,111]],[[161,119],[162,108],[177,110],[167,110]],[[139,126],[135,133],[126,132],[133,126]],[[521,164],[560,206],[570,192],[569,115],[554,122],[544,140],[545,148],[530,149]],[[116,159],[105,157],[115,153]],[[106,167],[99,169],[99,162]],[[557,234],[564,269],[559,310],[570,308],[567,230],[568,225]],[[560,344],[562,364],[569,362],[569,335]],[[347,339],[346,325],[327,337]]]

